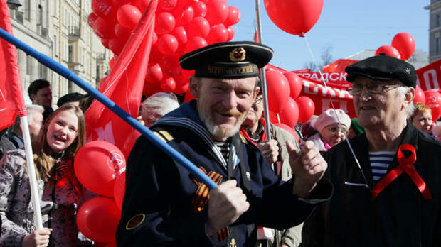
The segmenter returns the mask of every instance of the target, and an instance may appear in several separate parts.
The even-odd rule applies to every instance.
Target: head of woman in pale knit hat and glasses
[[[336,115],[341,122],[341,128]],[[348,133],[349,126],[351,126],[351,119],[343,110],[336,109],[334,113],[333,109],[329,109],[315,120],[314,127],[318,133],[307,140],[313,141],[314,146],[323,153],[344,140],[344,133]]]

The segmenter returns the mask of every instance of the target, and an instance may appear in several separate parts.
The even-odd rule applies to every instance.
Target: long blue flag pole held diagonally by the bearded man
[[[190,160],[185,158],[181,153],[174,150],[174,148],[171,148],[167,143],[164,143],[159,137],[157,137],[152,131],[150,131],[146,126],[142,125],[137,121],[137,119],[132,118],[129,114],[127,114],[126,111],[121,109],[115,102],[111,101],[107,97],[105,97],[104,94],[102,94],[97,89],[91,87],[87,82],[85,82],[83,79],[78,77],[78,75],[75,75],[75,73],[72,70],[69,70],[68,68],[64,67],[63,65],[60,65],[58,62],[55,62],[51,59],[51,57],[48,57],[47,55],[44,55],[43,53],[39,53],[37,50],[31,48],[31,46],[26,45],[26,43],[23,43],[21,40],[18,40],[18,38],[15,38],[13,35],[9,34],[8,32],[4,31],[2,28],[0,28],[0,37],[4,38],[4,40],[8,41],[9,43],[16,46],[16,48],[23,50],[28,55],[31,55],[34,57],[38,62],[41,62],[46,67],[49,67],[51,70],[57,72],[62,77],[65,77],[66,79],[74,82],[78,85],[78,87],[81,87],[85,90],[85,92],[89,93],[93,98],[95,98],[97,101],[100,101],[102,104],[104,104],[108,109],[113,111],[117,116],[119,116],[122,120],[124,120],[127,124],[135,128],[137,131],[139,131],[142,136],[145,136],[149,141],[154,143],[155,146],[158,148],[161,148],[161,150],[164,151],[167,155],[170,155],[171,158],[176,160],[178,163],[184,166],[191,174],[195,175],[199,181],[206,184],[210,189],[218,187],[216,185],[216,182],[213,182],[205,173],[203,173],[199,168],[196,167],[193,163],[191,163]]]

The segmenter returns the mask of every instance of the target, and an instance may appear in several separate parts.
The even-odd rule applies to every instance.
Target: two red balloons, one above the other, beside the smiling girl
[[[87,200],[76,217],[78,229],[93,241],[115,243],[125,191],[125,167],[122,151],[106,141],[86,143],[75,155],[75,176],[87,190],[100,194]]]

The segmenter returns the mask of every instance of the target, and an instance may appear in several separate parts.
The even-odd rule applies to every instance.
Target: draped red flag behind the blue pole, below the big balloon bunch
[[[100,92],[135,119],[152,47],[156,5],[157,0],[150,2],[112,71],[100,82]],[[85,112],[85,120],[87,141],[102,140],[122,148],[127,136],[133,131],[129,124],[96,100]]]

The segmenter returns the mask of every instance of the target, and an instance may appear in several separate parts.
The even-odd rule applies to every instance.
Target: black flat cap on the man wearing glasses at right
[[[415,67],[408,62],[388,55],[368,57],[346,67],[346,81],[352,82],[356,77],[363,76],[377,81],[398,79],[405,86],[415,88],[417,76]]]

